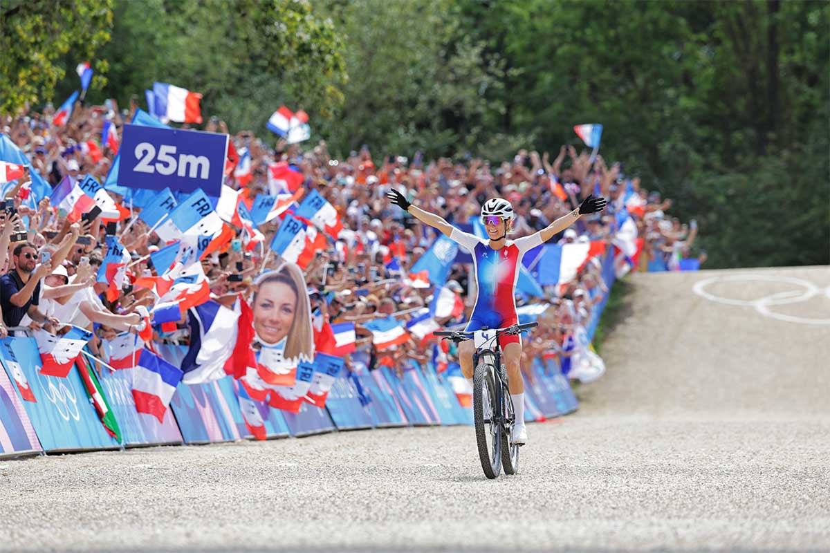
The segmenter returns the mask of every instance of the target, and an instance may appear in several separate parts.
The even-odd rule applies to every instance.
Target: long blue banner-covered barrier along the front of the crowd
[[[603,279],[614,281],[613,256],[603,260]],[[598,303],[588,322],[593,337],[607,301]],[[161,344],[159,354],[179,365],[186,349]],[[53,454],[96,449],[123,449],[161,444],[210,444],[253,439],[240,407],[240,386],[231,376],[203,384],[179,384],[159,423],[135,410],[130,369],[100,368],[100,389],[120,428],[120,441],[101,424],[73,366],[66,378],[41,375],[37,343],[29,337],[0,340],[0,457]],[[338,430],[400,426],[472,424],[472,410],[463,407],[447,372],[432,363],[403,362],[368,370],[367,352],[352,354],[353,371],[341,371],[324,408],[303,403],[298,413],[253,401],[268,439],[300,437]],[[525,420],[567,415],[578,401],[555,358],[536,359],[530,367]],[[27,399],[29,398],[29,399]]]

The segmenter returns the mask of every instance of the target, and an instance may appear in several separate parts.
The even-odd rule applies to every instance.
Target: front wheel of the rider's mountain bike
[[[481,468],[487,478],[501,473],[501,406],[496,404],[496,367],[493,357],[482,355],[473,373],[472,410]]]

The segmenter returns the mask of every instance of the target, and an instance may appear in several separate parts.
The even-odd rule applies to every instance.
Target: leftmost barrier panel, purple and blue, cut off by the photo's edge
[[[41,453],[41,443],[37,439],[32,421],[22,405],[21,396],[10,380],[12,369],[2,350],[7,350],[3,341],[0,344],[0,361],[5,371],[0,371],[0,458],[16,457],[25,454]],[[9,374],[7,374],[9,373]]]

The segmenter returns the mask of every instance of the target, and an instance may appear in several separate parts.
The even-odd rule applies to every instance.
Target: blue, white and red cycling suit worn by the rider
[[[458,229],[452,229],[450,239],[470,251],[476,274],[476,306],[470,315],[466,331],[481,327],[503,328],[518,323],[514,290],[519,279],[519,267],[525,252],[542,244],[539,232],[516,240],[505,240],[505,247],[493,250],[490,240],[479,238]],[[519,342],[518,336],[504,337],[504,345]],[[513,339],[515,338],[515,339]]]

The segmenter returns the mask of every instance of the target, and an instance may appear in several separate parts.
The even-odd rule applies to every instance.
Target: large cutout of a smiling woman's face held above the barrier
[[[284,348],[283,357],[314,358],[311,306],[305,277],[297,265],[283,264],[256,279],[253,297],[254,332],[266,346]]]

